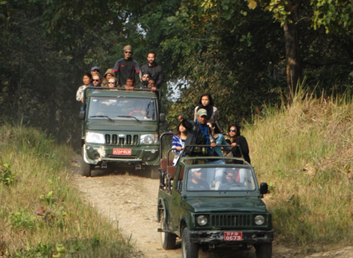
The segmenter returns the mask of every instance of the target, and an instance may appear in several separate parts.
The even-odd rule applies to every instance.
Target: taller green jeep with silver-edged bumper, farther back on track
[[[158,177],[159,123],[165,120],[159,107],[159,98],[150,91],[85,89],[81,174],[91,176],[92,169],[123,165]]]

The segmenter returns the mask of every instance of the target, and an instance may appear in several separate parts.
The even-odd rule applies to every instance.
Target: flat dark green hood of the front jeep
[[[194,213],[254,212],[264,213],[266,206],[261,199],[245,197],[195,197],[182,201],[181,206]]]

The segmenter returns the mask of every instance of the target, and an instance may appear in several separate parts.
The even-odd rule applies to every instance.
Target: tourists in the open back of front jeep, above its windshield
[[[250,163],[249,146],[243,135],[240,135],[240,126],[233,124],[228,128],[228,134],[223,135],[217,123],[218,109],[213,104],[209,93],[201,96],[199,105],[195,107],[194,120],[187,121],[179,116],[177,132],[172,138],[172,148],[175,149],[173,165],[176,165],[185,145],[206,144],[207,153],[202,155],[241,157]],[[219,145],[226,145],[223,148]],[[185,155],[197,155],[197,148],[186,147]],[[224,164],[224,159],[209,161],[211,164]]]

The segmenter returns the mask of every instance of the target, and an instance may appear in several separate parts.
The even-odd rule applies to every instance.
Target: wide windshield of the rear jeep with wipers
[[[152,98],[92,97],[89,119],[156,121],[156,100]]]

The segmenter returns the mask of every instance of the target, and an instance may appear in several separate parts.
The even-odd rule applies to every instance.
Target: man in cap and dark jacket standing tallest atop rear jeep
[[[141,68],[138,62],[135,59],[132,59],[132,47],[131,45],[126,45],[123,49],[124,58],[117,60],[113,71],[118,77],[118,84],[125,85],[127,83],[127,78],[134,78],[135,83],[135,73],[138,74],[141,80]]]

